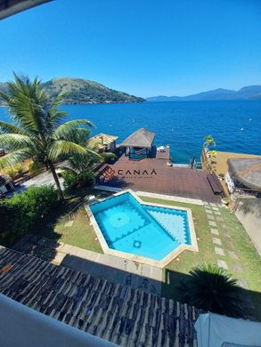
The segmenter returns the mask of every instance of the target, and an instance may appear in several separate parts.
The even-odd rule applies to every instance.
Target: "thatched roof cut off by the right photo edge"
[[[227,164],[233,178],[251,190],[261,191],[261,158],[228,159]]]

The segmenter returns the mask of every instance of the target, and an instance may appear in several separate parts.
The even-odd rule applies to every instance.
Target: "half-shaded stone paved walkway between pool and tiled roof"
[[[98,254],[32,234],[21,238],[13,248],[72,270],[143,289],[151,294],[161,294],[162,270],[148,264]]]

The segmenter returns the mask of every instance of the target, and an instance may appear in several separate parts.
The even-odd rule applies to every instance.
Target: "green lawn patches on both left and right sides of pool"
[[[45,216],[45,220],[39,225],[38,234],[46,238],[54,238],[57,241],[86,248],[88,250],[102,253],[102,247],[96,239],[93,228],[89,225],[86,217],[86,211],[80,208],[76,214],[73,225],[69,228],[65,227],[68,222],[68,214],[74,206],[82,201],[88,195],[94,194],[97,198],[104,198],[110,193],[98,190],[73,190],[66,195],[66,201],[58,208],[53,210],[51,214]],[[193,222],[195,225],[196,235],[198,238],[199,252],[185,251],[180,254],[173,262],[170,262],[164,269],[164,284],[162,295],[168,298],[178,299],[175,290],[176,284],[183,278],[189,276],[189,271],[193,266],[205,263],[216,263],[217,259],[222,259],[228,264],[229,273],[233,278],[242,278],[249,286],[249,290],[245,293],[252,299],[255,305],[255,316],[261,320],[261,259],[257,254],[256,248],[253,246],[247,232],[243,229],[241,223],[234,214],[231,214],[226,208],[219,208],[222,214],[226,229],[221,226],[222,222],[217,222],[216,229],[219,230],[218,238],[222,241],[225,256],[217,256],[214,250],[210,227],[208,226],[208,218],[204,206],[192,204],[184,204],[179,202],[145,198],[146,202],[166,204],[172,206],[183,206],[192,209]],[[49,227],[46,226],[49,224]],[[224,232],[228,232],[231,238],[224,236]],[[229,257],[228,251],[233,251],[238,255],[239,259],[234,260]],[[240,264],[243,272],[238,273],[233,270],[235,264]],[[251,311],[247,311],[250,315]]]

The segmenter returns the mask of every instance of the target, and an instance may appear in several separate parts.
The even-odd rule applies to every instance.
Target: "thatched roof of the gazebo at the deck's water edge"
[[[120,147],[138,147],[138,148],[151,148],[154,141],[155,133],[150,130],[141,128],[129,135],[125,141],[120,144]]]

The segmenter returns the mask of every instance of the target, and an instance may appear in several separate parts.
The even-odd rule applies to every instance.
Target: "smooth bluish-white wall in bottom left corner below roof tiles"
[[[0,295],[0,346],[113,347],[116,344],[70,327]]]

